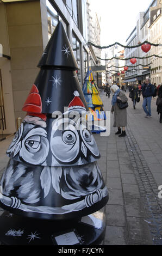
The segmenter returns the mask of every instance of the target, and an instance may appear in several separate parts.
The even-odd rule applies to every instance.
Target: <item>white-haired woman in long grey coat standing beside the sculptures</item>
[[[114,113],[114,127],[118,127],[118,131],[115,134],[120,134],[119,137],[126,136],[126,126],[127,126],[127,108],[120,109],[117,106],[116,101],[121,100],[123,103],[128,101],[127,96],[119,89],[116,84],[111,86],[111,92],[114,93],[112,98],[111,113]],[[121,132],[122,127],[122,132]]]

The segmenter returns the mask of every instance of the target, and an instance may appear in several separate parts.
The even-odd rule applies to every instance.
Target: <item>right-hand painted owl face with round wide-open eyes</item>
[[[80,165],[94,162],[99,157],[99,150],[86,123],[82,119],[73,121],[60,118],[54,121],[51,132],[52,166],[58,163]],[[61,130],[64,127],[64,130]],[[56,147],[57,145],[57,147]]]

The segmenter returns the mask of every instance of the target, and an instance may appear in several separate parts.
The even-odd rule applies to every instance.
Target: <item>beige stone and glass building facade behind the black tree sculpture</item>
[[[64,25],[83,85],[88,66],[97,65],[88,47],[86,0],[0,1],[0,134],[16,131],[16,120],[39,73],[36,66],[58,22]],[[1,55],[0,55],[1,56]]]

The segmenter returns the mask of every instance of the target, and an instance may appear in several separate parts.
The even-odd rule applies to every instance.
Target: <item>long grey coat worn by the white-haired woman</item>
[[[123,103],[128,101],[127,96],[122,91],[120,91],[119,97]],[[111,107],[111,111],[114,112],[114,127],[127,126],[127,108],[120,109],[117,103],[115,103],[115,105]]]

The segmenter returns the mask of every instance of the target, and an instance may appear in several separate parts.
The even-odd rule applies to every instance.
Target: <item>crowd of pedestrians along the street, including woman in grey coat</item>
[[[114,113],[114,127],[118,127],[118,131],[115,134],[118,134],[119,137],[126,136],[125,127],[127,125],[127,107],[128,107],[128,98],[124,94],[128,90],[129,97],[132,99],[133,108],[135,109],[136,103],[140,101],[140,96],[143,97],[142,107],[145,112],[145,118],[151,118],[151,101],[153,97],[157,97],[156,105],[157,112],[160,115],[159,122],[162,121],[162,83],[161,84],[152,84],[150,78],[146,78],[146,80],[142,84],[133,84],[131,86],[126,85],[116,85],[110,86],[106,84],[104,87],[104,92],[108,98],[110,97],[110,93],[113,93],[112,101],[111,101],[111,113]]]

